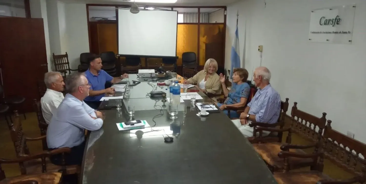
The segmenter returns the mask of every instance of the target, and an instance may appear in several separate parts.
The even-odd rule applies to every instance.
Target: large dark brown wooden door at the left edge
[[[0,71],[4,96],[26,98],[23,109],[33,111],[37,81],[48,71],[43,19],[0,18]]]

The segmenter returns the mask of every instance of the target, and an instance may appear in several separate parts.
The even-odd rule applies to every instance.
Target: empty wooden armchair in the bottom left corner
[[[21,158],[16,158],[14,160],[0,159],[0,184],[58,184],[61,180],[61,172],[46,172],[46,157],[51,156],[52,152],[45,152],[42,154],[37,154],[33,156],[26,156]],[[38,160],[42,162],[42,173],[36,175],[27,175],[26,170],[21,167],[20,176],[14,176],[5,178],[5,172],[1,168],[2,164],[12,164],[19,163],[20,166],[24,165],[27,161]]]

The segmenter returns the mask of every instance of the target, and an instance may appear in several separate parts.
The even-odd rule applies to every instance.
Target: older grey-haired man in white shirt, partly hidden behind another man
[[[48,124],[51,122],[52,116],[55,114],[57,107],[64,99],[62,92],[64,91],[64,79],[60,72],[45,73],[45,84],[47,87],[45,95],[41,98],[41,107],[43,118]]]

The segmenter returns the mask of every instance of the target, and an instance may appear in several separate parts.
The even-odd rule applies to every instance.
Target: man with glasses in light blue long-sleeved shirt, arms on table
[[[81,165],[85,147],[85,129],[98,130],[103,115],[83,102],[89,95],[90,84],[83,73],[72,73],[66,78],[66,96],[52,116],[47,129],[50,150],[70,147],[65,154],[66,165]],[[61,165],[61,155],[51,157],[53,164]]]

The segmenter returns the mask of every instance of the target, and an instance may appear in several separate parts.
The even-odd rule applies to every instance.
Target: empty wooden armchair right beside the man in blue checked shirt
[[[296,105],[296,104],[295,104]],[[282,151],[290,151],[293,153],[298,154],[305,154],[303,149],[314,147],[314,154],[318,153],[321,147],[321,137],[323,129],[325,128],[326,123],[326,113],[323,113],[323,116],[321,118],[318,118],[316,116],[313,116],[311,114],[308,114],[306,112],[300,111],[296,108],[292,108],[291,111],[292,115],[292,125],[288,129],[276,129],[275,127],[257,127],[257,131],[259,132],[259,142],[266,142],[266,138],[262,138],[262,131],[270,131],[270,132],[278,132],[283,133],[284,131],[288,131],[288,136],[286,138],[286,143],[282,145],[281,142],[269,142],[269,143],[254,143],[253,147],[255,151],[258,152],[258,154],[263,158],[263,160],[268,165],[268,168],[272,172],[277,172],[279,170],[282,170],[285,165],[283,162],[283,158],[280,158],[277,156],[279,152]],[[295,120],[295,117],[297,117],[297,120]],[[296,124],[304,124],[304,129],[306,129],[307,134],[306,136],[302,136],[308,140],[311,141],[310,145],[291,145],[291,134],[293,132],[293,127],[296,126]],[[309,122],[309,123],[307,123]],[[309,124],[309,126],[307,126]],[[312,126],[313,125],[313,126]],[[318,127],[318,132],[316,131],[316,128]],[[296,132],[295,132],[296,133]],[[302,134],[300,134],[301,136]],[[314,164],[314,159],[312,158],[306,158],[306,159],[300,159],[300,158],[292,158],[290,160],[289,167],[291,169],[294,169],[299,166],[311,166],[311,164]]]

